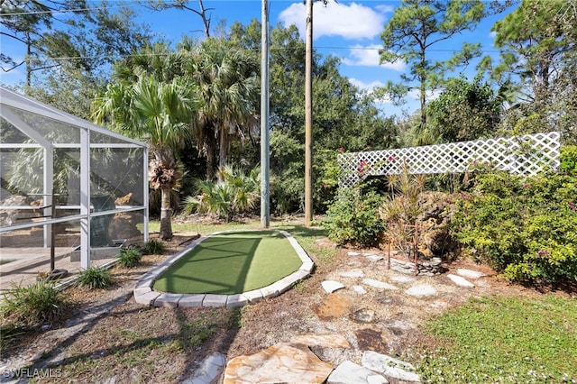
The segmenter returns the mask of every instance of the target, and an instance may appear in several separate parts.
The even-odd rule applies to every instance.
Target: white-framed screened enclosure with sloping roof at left
[[[3,278],[86,269],[148,240],[145,143],[4,87],[0,106]]]

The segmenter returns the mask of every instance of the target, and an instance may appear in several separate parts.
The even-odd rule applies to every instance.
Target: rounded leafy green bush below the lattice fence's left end
[[[384,222],[379,217],[382,197],[370,191],[345,190],[326,212],[328,237],[339,244],[371,246],[379,242]]]

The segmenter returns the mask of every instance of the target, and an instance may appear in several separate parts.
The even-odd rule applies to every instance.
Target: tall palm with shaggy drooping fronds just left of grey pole
[[[224,168],[230,154],[231,137],[241,141],[259,126],[257,108],[260,90],[258,60],[250,51],[230,46],[223,39],[208,39],[200,45],[183,41],[188,51],[184,71],[195,78],[201,106],[193,128],[197,147],[206,155],[206,176]]]

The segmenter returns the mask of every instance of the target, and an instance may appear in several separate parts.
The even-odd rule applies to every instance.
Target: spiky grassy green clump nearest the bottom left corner
[[[37,280],[31,285],[12,283],[3,293],[0,312],[15,325],[32,326],[58,322],[69,302],[54,282]]]

